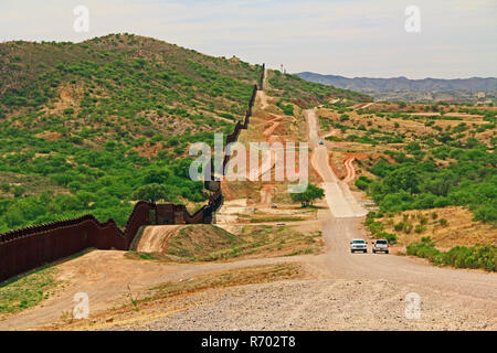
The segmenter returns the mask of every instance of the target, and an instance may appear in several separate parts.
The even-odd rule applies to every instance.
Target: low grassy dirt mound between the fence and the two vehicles
[[[322,250],[321,233],[309,226],[237,224],[226,228],[198,224],[186,226],[150,226],[138,244],[133,258],[155,258],[169,261],[240,260]],[[140,254],[146,249],[147,254]]]

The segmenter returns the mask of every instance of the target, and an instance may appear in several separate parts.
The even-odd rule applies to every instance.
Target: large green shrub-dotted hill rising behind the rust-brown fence
[[[140,199],[197,207],[189,146],[233,131],[261,69],[133,34],[1,43],[0,232],[86,213],[124,225]],[[300,101],[337,94],[308,86],[285,82]]]

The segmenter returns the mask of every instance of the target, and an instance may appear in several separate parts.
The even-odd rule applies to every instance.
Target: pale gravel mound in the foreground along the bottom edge
[[[495,330],[479,302],[422,289],[421,318],[405,318],[410,286],[385,280],[292,280],[202,292],[114,330]],[[298,293],[298,296],[296,295]],[[177,303],[180,306],[180,303]]]

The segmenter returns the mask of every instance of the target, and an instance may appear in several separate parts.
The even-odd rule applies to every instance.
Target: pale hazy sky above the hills
[[[76,6],[89,32],[76,33]],[[408,6],[421,32],[408,33]],[[345,76],[497,76],[497,0],[1,0],[0,41],[128,32],[215,56]]]

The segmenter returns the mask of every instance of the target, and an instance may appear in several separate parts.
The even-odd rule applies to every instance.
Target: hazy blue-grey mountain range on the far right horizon
[[[455,79],[409,79],[406,77],[348,78],[338,75],[320,75],[309,72],[298,73],[297,75],[306,81],[364,93],[373,96],[376,100],[478,101],[483,99],[495,100],[497,93],[497,78],[495,77]]]

